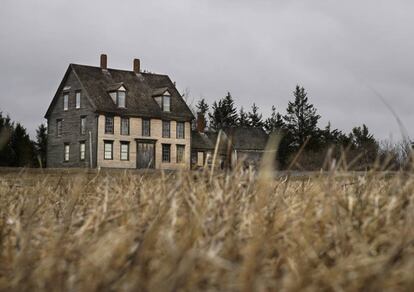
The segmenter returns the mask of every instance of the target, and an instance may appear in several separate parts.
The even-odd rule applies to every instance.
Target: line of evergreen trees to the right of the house
[[[196,108],[198,113],[208,116],[208,128],[212,131],[255,127],[269,134],[279,133],[277,162],[280,168],[320,169],[327,163],[329,155],[329,163],[352,161],[352,165],[346,167],[362,170],[370,168],[383,154],[379,142],[365,124],[353,127],[349,133],[333,128],[330,123],[321,128],[321,116],[309,101],[306,90],[299,85],[293,91],[286,110],[279,112],[272,106],[271,115],[266,119],[255,103],[249,111],[243,107],[238,111],[230,92],[214,101],[211,107],[201,99]],[[298,153],[301,153],[299,157]]]

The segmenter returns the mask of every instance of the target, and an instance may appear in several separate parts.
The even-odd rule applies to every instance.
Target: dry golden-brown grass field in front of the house
[[[2,291],[414,291],[414,177],[0,173]]]

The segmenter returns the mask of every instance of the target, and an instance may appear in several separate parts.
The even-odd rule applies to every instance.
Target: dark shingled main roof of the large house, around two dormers
[[[70,64],[54,100],[60,94],[71,70],[79,79],[96,112],[181,121],[190,121],[194,118],[171,79],[167,75],[153,73],[136,74],[133,71]],[[126,108],[118,108],[109,95],[111,89],[117,86],[119,88],[121,85],[127,89]],[[160,88],[165,88],[171,94],[170,112],[163,112],[153,98],[154,90]],[[49,115],[53,104],[54,101],[45,117]]]

